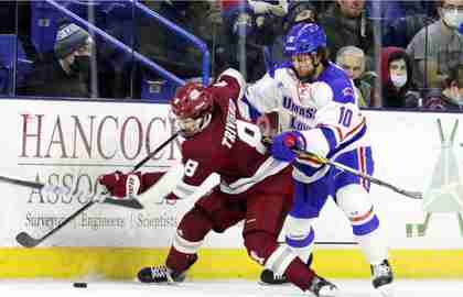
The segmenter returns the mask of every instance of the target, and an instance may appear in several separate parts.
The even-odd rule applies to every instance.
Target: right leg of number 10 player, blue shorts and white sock
[[[367,148],[343,154],[337,162],[373,174],[372,152]],[[348,173],[336,176],[336,202],[351,221],[354,235],[370,263],[373,286],[385,296],[392,296],[392,268],[388,261],[387,240],[369,198],[369,183]]]

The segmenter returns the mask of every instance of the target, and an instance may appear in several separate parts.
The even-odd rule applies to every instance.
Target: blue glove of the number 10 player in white
[[[294,148],[305,150],[304,136],[298,131],[283,132],[274,136],[270,151],[274,158],[292,162],[297,156]]]

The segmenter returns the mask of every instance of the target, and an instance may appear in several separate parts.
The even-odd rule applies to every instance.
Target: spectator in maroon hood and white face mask
[[[419,107],[420,97],[413,88],[413,72],[405,50],[394,46],[383,48],[380,65],[383,107]]]

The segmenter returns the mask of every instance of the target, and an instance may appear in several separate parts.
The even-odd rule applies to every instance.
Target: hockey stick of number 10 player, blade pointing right
[[[263,143],[271,144],[271,139],[265,138],[263,139]],[[407,196],[409,198],[412,198],[412,199],[422,199],[423,198],[423,195],[422,195],[421,191],[412,191],[412,190],[401,189],[401,188],[399,188],[397,186],[394,186],[394,185],[391,185],[389,183],[386,183],[386,182],[384,182],[384,180],[381,180],[379,178],[373,177],[370,175],[367,175],[367,174],[365,174],[363,172],[356,170],[356,169],[354,169],[354,168],[352,168],[349,166],[346,166],[344,164],[337,163],[335,161],[331,161],[331,160],[329,160],[326,157],[319,156],[319,155],[316,155],[314,153],[310,153],[310,152],[305,152],[305,151],[301,151],[301,150],[293,150],[293,152],[297,153],[301,157],[312,158],[312,160],[315,160],[315,161],[317,161],[317,162],[320,162],[322,164],[326,164],[326,165],[336,167],[337,169],[340,169],[342,172],[345,172],[345,173],[349,173],[349,174],[359,176],[362,178],[365,178],[366,180],[369,180],[373,184],[376,184],[378,186],[383,186],[383,187],[389,188],[389,189],[391,189],[391,190],[394,190],[394,191],[396,191],[398,194],[401,194],[403,196]]]

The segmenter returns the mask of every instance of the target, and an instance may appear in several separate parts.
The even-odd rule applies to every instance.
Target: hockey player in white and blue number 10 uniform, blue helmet
[[[370,263],[373,286],[384,296],[394,296],[386,238],[368,197],[368,180],[299,157],[293,151],[312,152],[373,174],[367,123],[358,109],[353,82],[327,59],[326,36],[316,24],[294,25],[286,37],[284,51],[291,62],[250,85],[240,108],[251,119],[278,112],[281,133],[272,139],[271,152],[278,160],[292,162],[294,180],[286,243],[309,261],[315,238],[312,222],[331,196],[348,218]]]

